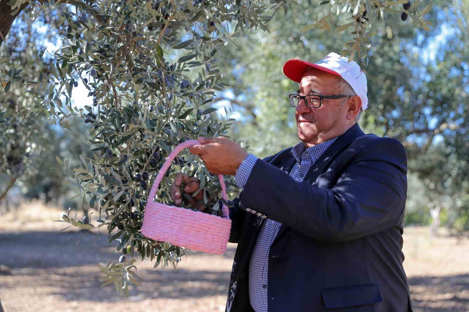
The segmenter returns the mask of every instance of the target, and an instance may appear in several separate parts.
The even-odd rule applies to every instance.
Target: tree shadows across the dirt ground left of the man
[[[0,275],[4,278],[11,276],[17,282],[34,285],[37,289],[50,290],[48,296],[60,296],[65,300],[123,300],[116,294],[113,285],[101,288],[104,275],[95,267],[110,259],[117,262],[121,253],[113,253],[115,244],[108,244],[106,234],[74,233],[0,233],[0,250],[8,250],[0,256],[0,265],[10,268],[9,272],[0,272]],[[233,258],[234,251],[234,247],[228,247],[224,257]],[[190,251],[189,255],[203,254]],[[136,259],[138,275],[143,281],[138,287],[131,286],[129,295],[133,300],[227,295],[229,270],[153,268],[152,263],[145,266]],[[15,287],[16,282],[2,285],[3,289]]]

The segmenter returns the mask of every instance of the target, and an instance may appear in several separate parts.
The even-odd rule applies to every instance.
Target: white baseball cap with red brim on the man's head
[[[362,109],[366,110],[368,107],[366,76],[356,62],[349,62],[348,58],[340,57],[339,54],[332,52],[314,64],[300,59],[290,59],[283,65],[283,73],[291,80],[301,82],[303,74],[310,67],[342,77],[362,99]]]

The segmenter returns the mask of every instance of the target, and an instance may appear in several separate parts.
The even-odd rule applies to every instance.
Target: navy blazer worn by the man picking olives
[[[263,219],[282,226],[268,266],[269,312],[412,311],[402,267],[407,157],[392,138],[358,124],[312,165],[303,182],[289,176],[292,148],[258,160],[230,211],[238,243],[227,312],[252,312],[249,261]]]

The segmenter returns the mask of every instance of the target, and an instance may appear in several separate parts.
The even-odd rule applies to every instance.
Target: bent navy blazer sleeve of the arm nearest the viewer
[[[345,241],[399,225],[407,196],[406,174],[401,142],[378,138],[356,154],[329,189],[296,182],[258,160],[241,201],[319,241]]]

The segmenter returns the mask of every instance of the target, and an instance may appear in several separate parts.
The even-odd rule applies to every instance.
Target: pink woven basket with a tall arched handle
[[[191,250],[221,254],[227,249],[231,230],[231,220],[229,218],[228,207],[225,204],[222,204],[221,207],[223,217],[219,217],[153,201],[159,183],[177,154],[182,149],[196,144],[200,144],[200,142],[188,140],[179,144],[169,154],[161,167],[148,194],[142,234],[147,238],[169,242]],[[221,185],[221,196],[227,201],[225,180],[222,175],[219,175],[218,178]]]

